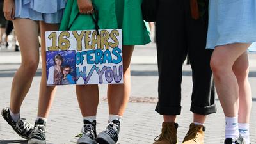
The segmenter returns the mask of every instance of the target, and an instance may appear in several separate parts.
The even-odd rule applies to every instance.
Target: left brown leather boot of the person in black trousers
[[[177,144],[177,128],[178,124],[175,122],[163,122],[162,133],[155,138],[156,142],[153,144]]]

